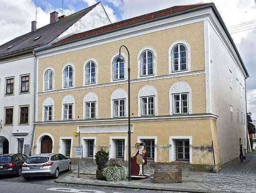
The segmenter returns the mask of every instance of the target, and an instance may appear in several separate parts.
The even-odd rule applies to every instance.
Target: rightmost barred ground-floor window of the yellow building
[[[189,160],[189,140],[176,140],[177,160]]]

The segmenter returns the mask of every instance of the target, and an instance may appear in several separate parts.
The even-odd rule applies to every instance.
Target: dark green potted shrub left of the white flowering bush
[[[102,172],[103,169],[107,167],[108,159],[109,153],[104,148],[100,148],[95,155],[95,160],[97,164],[96,179],[105,179]]]

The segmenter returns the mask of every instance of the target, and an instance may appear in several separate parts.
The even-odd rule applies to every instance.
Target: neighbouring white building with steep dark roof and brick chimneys
[[[110,24],[97,3],[70,16],[50,14],[50,24],[0,46],[0,154],[29,155],[33,139],[36,58],[33,49],[74,33]]]

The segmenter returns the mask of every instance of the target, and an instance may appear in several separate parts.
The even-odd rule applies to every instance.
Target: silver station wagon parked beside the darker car
[[[70,171],[71,161],[59,153],[40,154],[28,157],[22,165],[21,176],[25,180],[30,177],[52,176],[58,178],[60,172]]]

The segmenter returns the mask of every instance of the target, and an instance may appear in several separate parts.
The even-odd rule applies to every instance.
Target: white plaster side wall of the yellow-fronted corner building
[[[228,44],[220,36],[210,22],[204,21],[205,54],[206,54],[206,96],[207,112],[217,115],[218,143],[221,162],[226,163],[237,157],[240,138],[247,149],[247,119],[245,100],[245,75],[239,62],[232,55]],[[230,88],[229,71],[232,72],[232,88]],[[236,79],[242,84],[242,95],[236,92]],[[233,106],[231,120],[230,105]],[[239,110],[239,123],[237,121]],[[241,112],[245,114],[242,124]],[[234,148],[237,147],[237,148]]]

